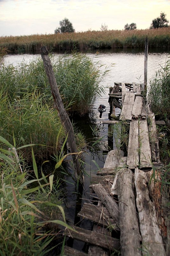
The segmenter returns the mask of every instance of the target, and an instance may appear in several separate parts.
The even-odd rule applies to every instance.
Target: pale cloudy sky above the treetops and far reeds
[[[170,0],[0,0],[0,36],[53,34],[65,17],[76,32],[132,22],[146,29],[160,12],[170,21]]]

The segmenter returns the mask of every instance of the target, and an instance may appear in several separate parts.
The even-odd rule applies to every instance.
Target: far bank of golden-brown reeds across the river
[[[108,30],[78,33],[23,35],[0,37],[0,49],[13,53],[39,52],[41,46],[48,50],[87,50],[103,48],[144,48],[148,37],[149,48],[170,46],[170,27],[145,30]]]

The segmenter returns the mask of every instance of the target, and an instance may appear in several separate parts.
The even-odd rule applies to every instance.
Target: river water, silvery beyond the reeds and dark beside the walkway
[[[61,53],[55,53],[55,58],[58,58]],[[108,120],[108,114],[110,106],[108,103],[108,93],[109,87],[113,86],[114,82],[143,82],[144,80],[144,51],[133,49],[116,49],[116,50],[104,50],[95,51],[92,53],[87,53],[87,56],[93,59],[94,62],[100,62],[103,66],[100,68],[102,71],[109,69],[109,73],[105,76],[103,84],[105,88],[105,94],[103,93],[101,97],[96,99],[95,105],[92,109],[92,116],[89,120],[81,118],[75,120],[76,126],[82,131],[87,140],[92,144],[95,141],[95,136],[92,134],[92,129],[97,129],[98,134],[103,137],[99,147],[88,149],[85,152],[85,170],[87,175],[85,176],[84,190],[81,195],[73,194],[75,190],[74,185],[69,184],[67,186],[67,208],[65,209],[69,223],[74,223],[79,221],[75,216],[76,211],[84,202],[92,200],[92,195],[89,190],[90,179],[96,174],[98,169],[96,164],[102,168],[104,166],[106,155],[105,151],[108,150],[108,127],[102,124],[103,120]],[[17,66],[18,63],[27,62],[31,59],[39,58],[40,55],[24,54],[24,55],[7,55],[5,57],[5,64],[13,64]],[[148,75],[147,81],[149,83],[150,79],[155,75],[155,71],[160,69],[160,66],[164,66],[166,58],[170,57],[170,52],[152,50],[148,51]],[[99,117],[98,107],[100,104],[106,106],[106,112]],[[116,114],[119,114],[119,109],[116,109]],[[113,149],[115,144],[113,143]],[[76,204],[77,203],[77,204]],[[76,208],[76,207],[77,208]],[[86,229],[91,229],[90,221],[82,221],[80,227],[86,227]],[[77,241],[73,242],[73,247],[82,249],[84,243]]]

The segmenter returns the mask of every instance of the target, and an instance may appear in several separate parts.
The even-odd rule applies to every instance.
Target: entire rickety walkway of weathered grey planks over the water
[[[158,199],[165,205],[165,198],[159,183],[150,182],[153,169],[157,173],[162,164],[154,113],[145,104],[144,84],[114,83],[109,102],[113,118],[115,108],[121,113],[119,121],[105,123],[120,127],[126,123],[129,127],[127,155],[121,148],[109,151],[104,168],[92,178],[98,205],[84,204],[78,213],[94,223],[92,231],[76,226],[75,231],[65,231],[66,236],[89,244],[88,252],[65,246],[64,255],[170,255],[169,218],[165,207],[157,209]]]

